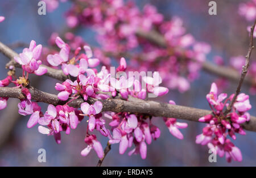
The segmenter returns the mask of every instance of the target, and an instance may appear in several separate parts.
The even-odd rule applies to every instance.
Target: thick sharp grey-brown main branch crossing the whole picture
[[[29,88],[33,100],[53,105],[63,105],[64,101],[57,98],[56,95],[48,94],[46,92],[37,90],[36,88]],[[25,99],[19,88],[0,87],[0,97],[19,98]],[[98,99],[88,98],[88,103],[93,104]],[[180,118],[189,121],[198,121],[200,117],[209,115],[212,111],[205,109],[197,109],[191,107],[184,107],[181,105],[172,105],[168,103],[160,103],[152,100],[141,100],[129,96],[128,101],[122,99],[106,99],[99,100],[103,104],[102,112],[131,112],[142,113],[155,117],[173,117]],[[69,103],[69,106],[80,108],[80,105],[84,103],[82,99],[76,99]],[[243,124],[243,128],[256,132],[256,117],[251,116],[249,122]]]

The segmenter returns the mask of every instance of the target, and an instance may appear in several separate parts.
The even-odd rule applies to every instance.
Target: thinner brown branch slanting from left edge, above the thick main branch
[[[0,42],[0,52],[2,52],[6,57],[8,57],[11,61],[7,63],[6,67],[9,67],[11,65],[14,65],[15,67],[21,68],[19,63],[16,63],[14,60],[15,56],[19,56],[18,53],[14,52],[14,50],[10,49],[8,46]],[[68,77],[63,73],[62,70],[53,69],[52,67],[41,65],[43,67],[47,68],[47,75],[48,77],[52,77],[61,81],[66,80]]]

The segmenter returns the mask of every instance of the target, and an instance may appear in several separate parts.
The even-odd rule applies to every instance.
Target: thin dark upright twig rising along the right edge
[[[238,86],[237,86],[236,94],[234,95],[231,103],[228,105],[228,107],[227,107],[227,109],[226,109],[224,114],[227,114],[227,113],[229,113],[231,111],[234,103],[236,102],[237,96],[240,94],[241,87],[242,87],[242,84],[243,84],[243,80],[245,79],[245,76],[246,76],[247,71],[249,69],[249,66],[250,66],[250,56],[251,56],[252,50],[254,49],[254,46],[253,46],[253,33],[254,33],[255,24],[256,24],[256,20],[254,21],[253,26],[251,26],[249,50],[247,52],[247,55],[245,56],[245,58],[246,58],[245,65],[243,66],[243,69],[242,69],[242,74],[241,74],[241,78],[240,78]]]

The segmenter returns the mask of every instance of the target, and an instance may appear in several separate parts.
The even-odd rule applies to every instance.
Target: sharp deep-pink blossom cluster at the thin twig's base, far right
[[[247,112],[251,109],[249,96],[239,94],[236,98],[230,113],[225,113],[224,108],[228,107],[228,101],[231,101],[234,94],[230,95],[222,93],[217,95],[218,88],[212,83],[207,100],[212,109],[212,114],[199,118],[200,122],[207,122],[207,126],[203,129],[203,133],[197,135],[196,143],[208,145],[209,149],[214,149],[219,156],[226,156],[226,160],[231,162],[235,160],[242,161],[242,154],[234,144],[228,139],[228,135],[232,139],[236,139],[235,133],[245,135],[242,129],[244,122],[250,120],[250,114]]]

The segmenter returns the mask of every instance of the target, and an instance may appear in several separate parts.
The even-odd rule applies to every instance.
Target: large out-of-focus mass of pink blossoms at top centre
[[[97,32],[102,50],[97,49],[96,56],[106,59],[105,52],[110,52],[119,58],[122,53],[138,49],[138,53],[129,56],[133,63],[129,70],[157,70],[169,88],[180,92],[189,90],[190,82],[199,76],[198,71],[210,52],[210,46],[186,34],[180,18],[175,16],[164,21],[154,6],[145,5],[140,11],[134,3],[122,0],[85,0],[82,3],[83,7],[74,3],[67,12],[67,24],[71,28],[80,24],[91,26]],[[164,37],[167,48],[138,35],[139,31],[153,30]],[[159,58],[164,60],[159,62]]]

